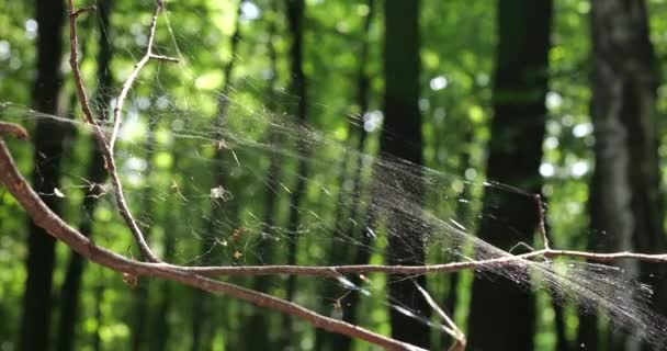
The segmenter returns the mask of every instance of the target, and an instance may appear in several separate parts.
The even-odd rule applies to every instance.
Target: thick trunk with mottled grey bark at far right
[[[664,250],[659,194],[656,90],[659,73],[643,0],[591,1],[595,53],[591,116],[596,170],[590,185],[590,225],[611,239],[606,250]],[[592,240],[590,240],[592,242]],[[592,245],[589,245],[592,248]],[[597,248],[600,249],[600,248]],[[624,262],[635,279],[655,284],[656,310],[666,312],[662,267]],[[658,271],[659,270],[659,271]],[[657,281],[647,281],[651,275]],[[596,318],[583,317],[579,342],[597,348]],[[613,350],[640,350],[635,331],[611,332]],[[649,350],[647,344],[643,349]]]

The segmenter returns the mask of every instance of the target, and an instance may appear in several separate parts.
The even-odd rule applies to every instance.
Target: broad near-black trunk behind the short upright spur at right
[[[505,0],[497,4],[487,179],[540,193],[552,1]],[[538,223],[531,196],[485,189],[478,230],[483,240],[509,250],[517,242],[532,242]],[[517,230],[508,230],[508,224]],[[472,349],[533,350],[534,315],[530,292],[501,276],[491,281],[475,274],[468,320]]]

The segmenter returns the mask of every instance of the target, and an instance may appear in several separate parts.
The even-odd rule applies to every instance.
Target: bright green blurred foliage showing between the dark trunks
[[[80,2],[81,1],[77,1]],[[190,197],[202,190],[215,188],[211,170],[205,169],[196,158],[212,158],[216,146],[211,143],[189,141],[188,138],[174,138],[174,134],[186,135],[188,131],[204,131],[211,126],[218,113],[221,91],[229,81],[234,89],[231,106],[226,127],[231,131],[248,133],[248,137],[262,140],[267,138],[269,123],[290,121],[285,114],[295,104],[295,97],[285,93],[290,82],[289,48],[291,39],[286,31],[282,2],[270,0],[246,1],[259,10],[257,18],[245,18],[240,21],[241,41],[238,53],[230,52],[229,36],[234,32],[236,19],[236,0],[228,1],[172,1],[167,3],[168,15],[161,16],[158,25],[157,50],[161,55],[178,57],[184,65],[172,66],[166,63],[152,63],[140,73],[137,84],[128,98],[131,117],[125,121],[126,139],[121,140],[118,148],[132,155],[132,162],[150,165],[150,177],[145,177],[143,168],[132,168],[126,159],[124,180],[128,202],[140,220],[150,227],[150,241],[161,254],[165,242],[172,236],[176,248],[172,252],[174,263],[201,263],[192,258],[201,251],[199,240],[189,240],[193,235],[202,236],[205,222],[202,214],[188,206],[173,212],[169,201],[151,206],[146,202],[144,191],[148,185],[160,189],[156,196],[161,199]],[[649,3],[652,38],[656,46],[660,64],[667,57],[667,2],[652,0]],[[589,104],[590,92],[590,38],[588,20],[590,5],[584,0],[555,1],[555,27],[553,48],[550,53],[550,89],[547,106],[547,135],[544,143],[542,174],[545,179],[544,194],[549,201],[549,226],[554,242],[558,247],[583,249],[587,244],[586,202],[588,183],[593,167],[590,133]],[[154,1],[113,1],[111,27],[103,35],[113,46],[112,72],[114,93],[120,91],[136,60],[143,55],[146,44],[146,25],[150,20]],[[380,12],[380,5],[375,5]],[[423,156],[426,166],[451,176],[446,195],[456,199],[468,182],[481,184],[484,181],[486,143],[489,139],[488,124],[491,118],[491,84],[494,77],[495,50],[495,2],[463,0],[423,0],[421,9],[421,100],[420,110],[425,137]],[[56,14],[54,14],[56,15]],[[308,124],[321,131],[327,137],[340,143],[353,145],[352,129],[347,116],[362,116],[357,102],[357,71],[359,53],[364,39],[363,21],[369,15],[365,1],[307,1],[305,33],[305,71],[308,80]],[[0,118],[20,121],[26,126],[34,124],[35,115],[29,113],[32,82],[35,78],[35,32],[32,2],[0,2]],[[95,54],[99,50],[97,14],[81,18],[81,50],[84,53],[81,68],[86,84],[92,94],[97,84]],[[167,20],[168,19],[168,20]],[[371,24],[368,36],[370,45],[369,61],[365,70],[371,78],[370,110],[382,109],[382,13]],[[271,23],[275,24],[273,36],[270,36]],[[64,33],[64,38],[67,35]],[[271,42],[271,43],[270,43]],[[67,44],[67,42],[65,42]],[[278,53],[276,68],[272,71],[269,58],[269,45]],[[235,56],[236,55],[236,56]],[[517,53],[521,55],[521,53]],[[231,77],[225,77],[224,67],[236,57],[236,67]],[[54,58],[60,59],[60,58]],[[65,84],[64,101],[74,101],[74,84],[70,69],[63,71]],[[275,77],[275,81],[272,78]],[[667,78],[666,70],[663,77]],[[667,81],[662,79],[662,81]],[[270,86],[273,83],[273,86]],[[196,87],[193,90],[192,87]],[[658,89],[659,112],[667,113],[667,87]],[[148,101],[148,106],[142,101]],[[10,102],[11,106],[3,105]],[[63,115],[72,115],[82,121],[79,107],[71,104]],[[265,118],[256,118],[261,115]],[[150,126],[149,121],[155,121]],[[166,122],[161,122],[166,121]],[[290,122],[291,123],[291,122]],[[155,152],[146,150],[146,132],[156,132]],[[131,133],[129,133],[131,132]],[[377,132],[369,134],[365,151],[374,154],[378,148]],[[90,154],[90,133],[84,127],[77,128],[75,137],[67,146],[70,158],[66,160],[61,191],[68,197],[64,217],[71,224],[82,219],[83,201],[81,179],[88,166]],[[665,133],[662,134],[663,138]],[[195,137],[195,136],[193,136]],[[208,137],[208,136],[199,136]],[[229,140],[231,148],[234,140]],[[287,140],[283,147],[294,147],[294,140]],[[32,149],[30,144],[10,141],[12,152],[24,173],[32,171]],[[315,149],[325,159],[346,157],[340,149]],[[318,154],[319,152],[319,154]],[[337,155],[340,154],[340,155]],[[121,152],[122,154],[122,152]],[[257,157],[257,155],[262,155]],[[466,157],[462,157],[465,155]],[[667,148],[660,148],[660,156],[667,155]],[[244,163],[242,171],[230,174],[230,186],[235,192],[239,208],[236,223],[242,227],[253,218],[261,217],[263,212],[264,176],[271,163],[268,152],[259,154],[240,150],[236,156]],[[334,199],[341,191],[340,165],[318,165],[313,169],[313,180],[337,184],[328,189],[310,186],[307,189],[304,207],[314,213],[327,214],[323,218],[334,224],[336,205]],[[546,165],[546,166],[545,166]],[[364,167],[362,178],[371,178],[371,168]],[[350,167],[350,166],[349,166]],[[284,186],[293,186],[296,162],[285,161]],[[174,170],[188,169],[186,174]],[[344,174],[343,174],[344,176]],[[340,183],[340,186],[339,186]],[[283,186],[281,185],[281,186]],[[462,216],[463,220],[475,223],[474,213],[478,207],[481,186],[467,190],[466,197],[473,203],[468,213],[457,213],[457,208],[442,194],[427,194],[427,203],[433,205],[434,212],[442,217]],[[368,190],[365,190],[368,192]],[[364,194],[366,194],[364,192]],[[368,194],[366,194],[368,195]],[[94,213],[94,241],[116,252],[126,254],[133,246],[128,229],[120,220],[111,196],[104,197]],[[157,203],[157,202],[156,202]],[[289,213],[287,195],[276,199],[275,220],[285,225]],[[308,219],[304,219],[308,225]],[[230,235],[235,227],[226,228]],[[474,229],[474,228],[470,228]],[[0,349],[12,350],[16,339],[22,288],[25,281],[23,262],[26,256],[26,218],[16,203],[4,190],[0,189]],[[244,264],[258,260],[250,252],[240,259],[234,258],[229,248],[222,250],[223,263]],[[134,250],[133,250],[134,251]],[[285,248],[278,247],[278,254],[284,254]],[[136,252],[136,251],[135,251]],[[320,262],[328,256],[328,248],[317,245],[316,240],[299,244],[298,262],[308,264]],[[127,253],[128,254],[128,253]],[[136,253],[134,253],[136,254]],[[61,284],[70,252],[59,247],[56,271],[56,302],[58,287]],[[442,257],[433,259],[443,259]],[[381,256],[372,257],[372,263],[381,263]],[[451,293],[446,276],[430,278],[429,284],[443,296]],[[459,304],[455,310],[456,321],[464,324],[470,302],[468,291],[472,275],[463,275],[459,291]],[[382,285],[383,275],[371,275],[371,281]],[[236,281],[236,280],[235,280]],[[238,280],[249,283],[250,280]],[[302,282],[302,280],[299,280]],[[145,282],[140,282],[144,284]],[[299,302],[307,306],[327,306],[317,295],[321,281],[303,280]],[[135,294],[123,283],[116,273],[88,265],[83,275],[81,315],[77,326],[77,350],[93,350],[93,339],[99,337],[104,350],[126,350],[132,333],[132,316]],[[150,284],[150,318],[159,308],[158,298],[165,294],[163,285]],[[279,276],[270,284],[270,292],[284,294],[284,278]],[[171,284],[171,308],[167,322],[172,332],[169,339],[170,350],[185,350],[191,342],[192,292]],[[99,292],[102,292],[101,294]],[[242,349],[246,318],[257,314],[255,308],[235,301],[216,301],[208,312],[214,322],[211,340],[216,350]],[[543,313],[539,317],[539,333],[535,336],[540,350],[554,348],[553,310],[549,296],[540,295],[539,306]],[[99,308],[99,312],[98,312]],[[60,312],[63,313],[63,312]],[[263,312],[262,312],[263,313]],[[360,307],[361,322],[371,329],[388,333],[386,302],[375,299],[364,302]],[[567,312],[567,328],[576,328],[576,312]],[[280,316],[267,313],[270,330],[251,331],[252,338],[276,340],[280,335]],[[56,320],[56,318],[54,318]],[[150,320],[150,325],[155,320]],[[301,326],[306,328],[305,326]],[[150,327],[149,327],[150,328]],[[54,327],[54,330],[56,328]],[[159,336],[159,330],[150,330]],[[314,343],[312,330],[303,332],[301,347],[308,349]],[[568,333],[574,338],[574,332]],[[56,338],[57,336],[54,336]],[[7,347],[5,347],[7,346]],[[365,350],[368,344],[355,342],[357,350]]]

